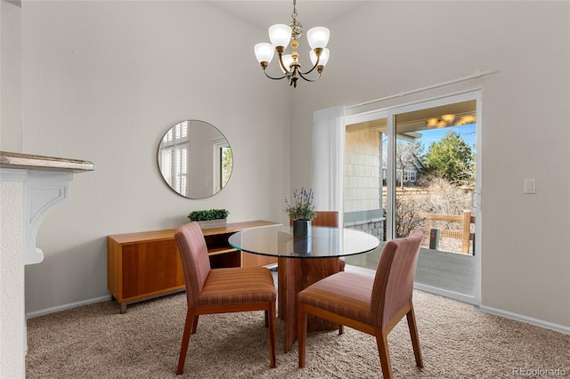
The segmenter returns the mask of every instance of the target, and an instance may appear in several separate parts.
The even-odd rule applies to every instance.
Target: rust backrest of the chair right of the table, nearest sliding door
[[[375,326],[386,327],[398,310],[411,301],[423,236],[423,231],[414,230],[406,238],[388,241],[382,249],[371,298],[372,322]]]

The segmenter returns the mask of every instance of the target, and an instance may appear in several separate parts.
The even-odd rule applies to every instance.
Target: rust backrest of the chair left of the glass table
[[[175,239],[182,259],[188,305],[198,305],[199,294],[211,270],[206,239],[198,222],[180,226],[175,231]]]

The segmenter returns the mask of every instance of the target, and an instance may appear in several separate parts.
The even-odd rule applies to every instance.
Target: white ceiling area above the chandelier
[[[212,1],[206,3],[233,14],[241,20],[259,28],[269,28],[273,24],[288,24],[293,12],[293,1]],[[305,31],[313,27],[326,27],[330,20],[337,19],[345,12],[363,3],[361,0],[312,1],[297,0],[297,20]]]

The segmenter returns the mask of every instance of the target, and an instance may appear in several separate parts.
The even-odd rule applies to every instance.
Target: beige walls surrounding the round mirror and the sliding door
[[[40,229],[28,311],[106,295],[107,234],[174,227],[214,206],[230,221],[282,221],[289,189],[311,181],[315,110],[499,69],[379,107],[482,88],[483,305],[570,326],[569,7],[362,2],[328,25],[322,80],[289,90],[251,54],[265,31],[208,4],[25,2],[22,149],[96,165]],[[222,23],[240,33],[222,36]],[[234,149],[232,180],[213,198],[177,198],[159,178],[159,138],[185,118],[216,125]],[[536,195],[522,193],[528,177]]]

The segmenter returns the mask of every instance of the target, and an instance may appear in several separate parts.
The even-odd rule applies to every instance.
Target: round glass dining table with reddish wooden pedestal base
[[[278,313],[283,320],[287,352],[297,340],[297,293],[344,270],[339,257],[374,250],[379,239],[360,230],[321,226],[311,228],[310,238],[297,238],[291,227],[273,225],[241,230],[228,238],[228,243],[243,252],[278,257]],[[312,315],[307,319],[309,331],[335,327],[338,326]]]

